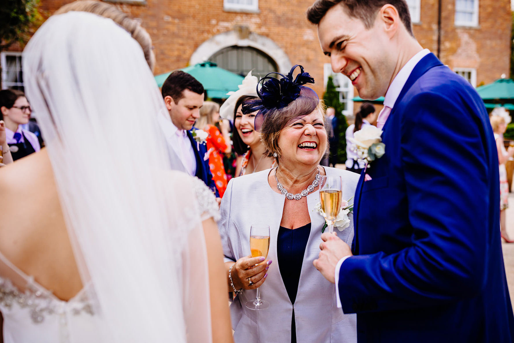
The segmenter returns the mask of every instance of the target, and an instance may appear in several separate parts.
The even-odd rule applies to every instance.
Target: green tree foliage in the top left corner
[[[28,42],[43,17],[38,11],[40,0],[3,0],[0,6],[0,51],[15,42]]]

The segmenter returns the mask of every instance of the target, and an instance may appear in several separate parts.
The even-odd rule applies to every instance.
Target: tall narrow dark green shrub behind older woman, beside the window
[[[334,128],[334,132],[337,134],[339,140],[336,142],[337,152],[334,156],[334,160],[335,163],[344,163],[346,161],[345,134],[346,128],[348,128],[348,122],[346,121],[346,117],[343,115],[344,104],[339,101],[339,92],[336,91],[336,86],[334,85],[332,76],[328,77],[323,100],[327,107],[334,107],[336,110],[337,128]]]

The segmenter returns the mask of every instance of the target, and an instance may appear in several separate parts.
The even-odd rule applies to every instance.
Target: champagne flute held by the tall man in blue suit
[[[320,177],[320,183],[321,210],[325,213],[328,232],[332,233],[334,232],[334,222],[341,210],[341,176],[323,175]]]

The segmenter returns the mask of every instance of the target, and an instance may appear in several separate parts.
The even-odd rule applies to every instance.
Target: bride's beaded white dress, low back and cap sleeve
[[[217,219],[218,206],[211,190],[197,178],[193,188],[198,209],[203,213],[201,219]],[[76,296],[61,300],[0,252],[0,311],[4,317],[5,343],[99,341],[99,317],[89,299],[91,294],[94,295],[93,285],[86,283]]]

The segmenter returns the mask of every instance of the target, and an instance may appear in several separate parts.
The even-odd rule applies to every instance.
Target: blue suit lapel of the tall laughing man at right
[[[407,94],[409,89],[412,87],[412,85],[418,80],[421,75],[425,74],[429,69],[436,67],[436,66],[442,66],[443,63],[439,61],[437,57],[433,53],[429,53],[427,56],[422,58],[412,69],[412,73],[407,79],[407,82],[405,85],[403,85],[403,88],[401,88],[401,92],[398,95],[398,98],[396,99],[396,102],[394,103],[393,109],[391,110],[391,114],[389,115],[388,120],[386,121],[386,124],[382,128],[382,131],[385,131],[388,127],[388,123],[391,122],[391,116],[394,115],[395,109],[397,109],[397,104],[401,102],[403,97]],[[362,195],[362,186],[364,184],[364,171],[362,171],[359,183],[357,184],[357,189],[355,190],[355,206],[354,206],[354,231],[355,236],[352,243],[352,251],[354,254],[359,254],[359,241],[358,241],[358,222],[359,222],[359,207],[360,207],[360,200]]]

